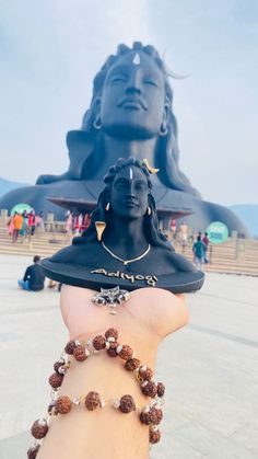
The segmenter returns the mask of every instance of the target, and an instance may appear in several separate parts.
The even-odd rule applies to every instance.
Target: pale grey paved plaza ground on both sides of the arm
[[[57,291],[16,288],[31,259],[0,256],[0,458],[23,459],[67,334]],[[160,349],[157,375],[167,395],[163,440],[152,459],[258,457],[257,298],[257,278],[219,274],[188,296],[190,325]]]

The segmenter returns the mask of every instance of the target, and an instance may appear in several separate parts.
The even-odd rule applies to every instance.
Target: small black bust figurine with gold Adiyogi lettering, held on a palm
[[[150,286],[177,294],[201,287],[203,273],[176,254],[159,229],[150,171],[156,172],[133,158],[109,169],[89,229],[43,262],[48,277],[93,289]]]

